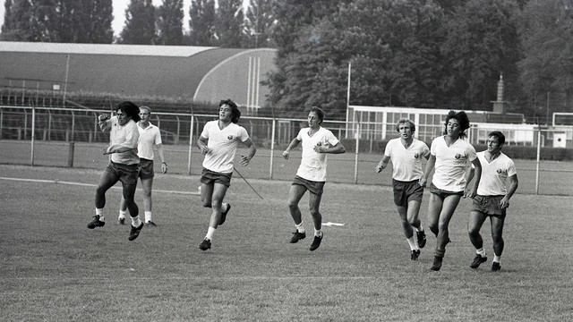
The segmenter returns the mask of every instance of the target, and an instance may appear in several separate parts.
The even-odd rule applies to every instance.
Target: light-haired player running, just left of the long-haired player
[[[376,166],[376,172],[380,174],[389,160],[392,160],[394,203],[398,208],[404,235],[410,245],[410,259],[417,260],[420,249],[426,244],[426,234],[423,232],[418,214],[423,197],[423,187],[420,185],[423,174],[422,158],[430,157],[430,148],[423,141],[414,138],[414,122],[405,118],[400,119],[396,124],[396,130],[400,133],[400,137],[388,141],[384,157]]]

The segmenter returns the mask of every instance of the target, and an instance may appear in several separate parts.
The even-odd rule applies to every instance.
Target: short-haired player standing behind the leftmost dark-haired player
[[[140,171],[139,178],[141,186],[143,187],[143,206],[145,207],[145,225],[156,226],[153,222],[151,206],[151,188],[153,186],[153,177],[155,171],[153,170],[153,147],[158,149],[158,155],[161,159],[161,173],[167,173],[167,162],[163,151],[163,141],[161,140],[161,132],[159,128],[150,123],[151,109],[148,106],[140,106],[140,122],[137,123],[137,130],[140,133],[140,140],[137,144],[137,155],[140,157]],[[118,223],[124,225],[127,204],[125,199],[122,198],[119,207]]]

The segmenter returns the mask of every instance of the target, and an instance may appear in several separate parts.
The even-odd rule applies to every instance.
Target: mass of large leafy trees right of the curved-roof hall
[[[350,104],[491,110],[503,76],[507,111],[573,112],[573,1],[285,0],[275,10],[270,101],[292,114]]]

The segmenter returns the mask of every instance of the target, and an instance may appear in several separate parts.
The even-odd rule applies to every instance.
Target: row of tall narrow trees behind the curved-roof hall
[[[183,0],[131,0],[117,38],[112,0],[5,0],[0,40],[137,45],[269,47],[271,0],[192,0],[184,32]]]

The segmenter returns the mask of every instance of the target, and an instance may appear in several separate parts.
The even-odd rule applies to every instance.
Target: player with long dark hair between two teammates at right
[[[475,196],[482,174],[482,165],[475,155],[475,148],[464,138],[469,129],[469,119],[464,111],[449,111],[445,122],[445,135],[432,140],[430,158],[420,184],[424,187],[435,166],[430,186],[428,204],[428,227],[437,237],[433,264],[430,269],[439,271],[449,243],[449,221],[458,207],[461,197]],[[475,165],[475,182],[466,185],[466,169]]]

